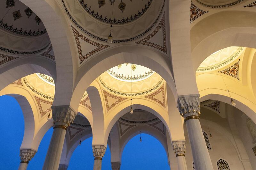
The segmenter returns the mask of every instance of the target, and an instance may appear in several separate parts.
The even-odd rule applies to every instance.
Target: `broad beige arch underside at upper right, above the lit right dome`
[[[195,72],[205,58],[220,49],[231,46],[256,48],[255,17],[256,12],[222,11],[196,23],[190,29]]]

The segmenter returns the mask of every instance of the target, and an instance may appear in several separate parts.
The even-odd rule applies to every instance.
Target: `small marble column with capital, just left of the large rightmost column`
[[[185,159],[185,141],[172,141],[172,148],[176,154],[179,170],[187,170],[187,164]]]

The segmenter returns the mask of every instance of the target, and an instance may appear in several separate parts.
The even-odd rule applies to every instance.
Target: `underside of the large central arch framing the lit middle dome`
[[[78,71],[76,87],[72,95],[71,106],[77,110],[78,104],[87,87],[106,70],[123,63],[134,63],[154,70],[170,86],[177,100],[171,62],[166,56],[148,48],[133,45],[121,45],[89,59]]]

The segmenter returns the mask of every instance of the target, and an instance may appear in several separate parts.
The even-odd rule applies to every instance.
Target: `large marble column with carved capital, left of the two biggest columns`
[[[75,112],[69,106],[52,107],[53,133],[43,170],[58,170],[66,131],[75,116]]]

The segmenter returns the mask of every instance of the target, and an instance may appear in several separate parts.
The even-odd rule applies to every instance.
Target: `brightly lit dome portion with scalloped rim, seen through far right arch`
[[[212,71],[224,67],[243,52],[243,47],[228,47],[207,57],[196,71]]]

